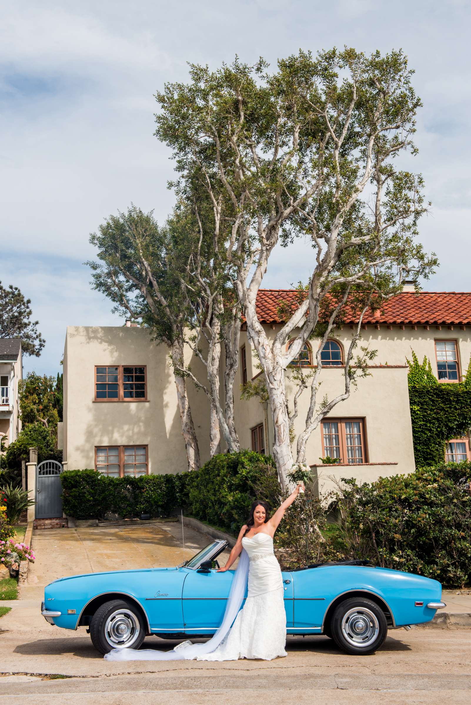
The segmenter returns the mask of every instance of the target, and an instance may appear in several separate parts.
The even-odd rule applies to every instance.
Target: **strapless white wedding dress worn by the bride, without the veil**
[[[230,632],[215,651],[197,656],[198,661],[236,661],[286,656],[286,612],[283,579],[268,534],[243,537],[249,556],[248,591]]]

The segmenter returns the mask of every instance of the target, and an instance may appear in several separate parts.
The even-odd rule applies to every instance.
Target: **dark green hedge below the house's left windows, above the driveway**
[[[96,470],[65,470],[61,479],[63,511],[75,519],[169,516],[183,508],[236,532],[253,498],[279,499],[274,461],[250,450],[215,455],[197,472],[107,477]]]

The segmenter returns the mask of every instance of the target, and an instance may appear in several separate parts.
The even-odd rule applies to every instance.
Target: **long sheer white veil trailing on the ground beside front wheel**
[[[231,589],[226,604],[226,611],[221,622],[221,626],[216,631],[209,641],[205,644],[192,644],[187,641],[178,644],[171,651],[156,651],[155,649],[113,649],[109,654],[105,654],[104,658],[107,661],[183,661],[183,659],[192,660],[197,656],[211,654],[216,651],[217,647],[228,635],[233,621],[236,619],[238,611],[242,606],[247,588],[247,579],[249,574],[249,556],[245,548],[240,553],[239,565],[231,583]],[[217,580],[217,579],[216,579]]]

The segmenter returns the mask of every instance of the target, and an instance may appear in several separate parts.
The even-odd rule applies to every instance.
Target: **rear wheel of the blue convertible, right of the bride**
[[[337,646],[347,654],[374,654],[388,633],[381,607],[365,597],[350,597],[341,602],[331,620],[331,633]]]

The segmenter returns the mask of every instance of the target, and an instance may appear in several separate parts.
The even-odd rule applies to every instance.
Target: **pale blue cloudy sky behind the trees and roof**
[[[169,151],[154,132],[153,94],[215,68],[344,44],[402,47],[424,108],[417,122],[432,209],[421,238],[441,266],[428,290],[469,281],[471,82],[467,0],[81,0],[2,7],[1,281],[32,299],[47,345],[25,369],[56,374],[67,325],[121,325],[90,290],[89,233],[130,202],[164,221],[173,205]],[[305,278],[304,247],[276,252],[264,286]]]

